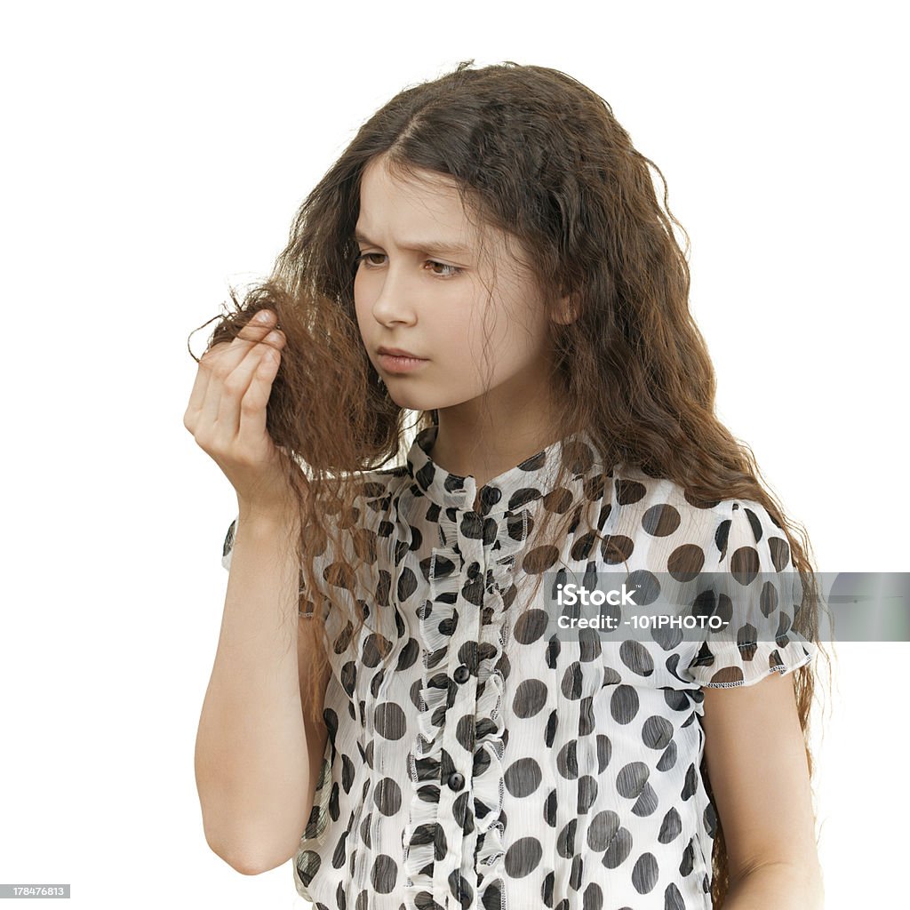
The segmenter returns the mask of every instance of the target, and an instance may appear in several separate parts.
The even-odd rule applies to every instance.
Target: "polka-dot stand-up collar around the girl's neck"
[[[430,458],[439,425],[420,430],[408,453],[408,473],[430,501],[441,508],[473,511],[477,498],[477,481],[445,470]],[[550,493],[561,460],[570,460],[572,475],[587,477],[591,470],[600,470],[597,449],[586,433],[573,434],[565,440],[552,442],[545,449],[521,461],[510,470],[488,480],[480,488],[480,514],[502,514],[515,511],[533,500]]]

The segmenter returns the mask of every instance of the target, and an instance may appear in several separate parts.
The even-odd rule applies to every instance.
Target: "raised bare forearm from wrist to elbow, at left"
[[[311,809],[294,534],[291,521],[243,511],[238,517],[197,733],[196,781],[207,843],[246,874],[283,861]]]

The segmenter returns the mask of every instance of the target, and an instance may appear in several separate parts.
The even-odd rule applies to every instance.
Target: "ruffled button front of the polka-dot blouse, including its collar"
[[[412,489],[429,500],[427,517],[440,532],[425,569],[430,600],[419,608],[425,704],[410,761],[416,785],[407,836],[408,910],[434,904],[460,910],[465,900],[499,905],[505,894],[506,613],[531,524],[525,507],[551,491],[562,458],[561,444],[554,443],[488,482],[479,514],[474,478],[430,458],[438,429],[421,431],[408,460]],[[450,684],[432,687],[434,675]],[[459,775],[465,785],[454,790]]]

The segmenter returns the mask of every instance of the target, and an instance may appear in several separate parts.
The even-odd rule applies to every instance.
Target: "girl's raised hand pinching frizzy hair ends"
[[[266,430],[285,343],[284,334],[272,330],[275,321],[272,310],[260,310],[236,339],[203,355],[183,423],[230,480],[240,511],[282,517],[292,501],[287,456]]]

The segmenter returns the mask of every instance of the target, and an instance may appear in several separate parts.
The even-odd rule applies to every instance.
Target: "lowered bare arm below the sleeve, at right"
[[[822,871],[793,677],[704,688],[705,756],[723,824],[723,910],[821,910]]]

